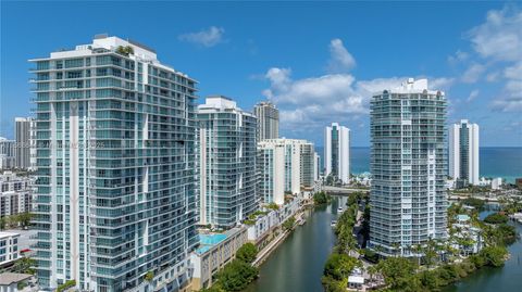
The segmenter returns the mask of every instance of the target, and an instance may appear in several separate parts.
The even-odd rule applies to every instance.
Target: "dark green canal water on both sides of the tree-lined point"
[[[323,267],[335,244],[331,227],[337,207],[346,208],[346,198],[337,198],[328,205],[308,212],[307,223],[298,227],[260,267],[260,277],[246,292],[316,292],[323,291]],[[494,211],[481,214],[484,218]],[[517,224],[522,232],[522,225]],[[511,257],[500,268],[483,268],[444,292],[512,292],[522,291],[522,241],[509,246]]]

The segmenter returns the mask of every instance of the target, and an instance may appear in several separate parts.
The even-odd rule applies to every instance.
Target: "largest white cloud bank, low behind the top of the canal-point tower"
[[[400,86],[408,77],[357,81],[351,74],[326,74],[294,80],[289,68],[270,68],[265,78],[270,88],[263,94],[281,110],[281,127],[302,135],[321,131],[332,123],[360,125],[370,111],[371,97],[384,89]],[[430,88],[447,89],[450,78],[430,79]],[[357,122],[359,120],[359,122]],[[357,123],[356,123],[357,122]]]

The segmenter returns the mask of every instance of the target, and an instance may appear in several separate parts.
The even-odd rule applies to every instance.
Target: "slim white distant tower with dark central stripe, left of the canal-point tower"
[[[332,123],[324,129],[324,176],[350,181],[350,129]]]

